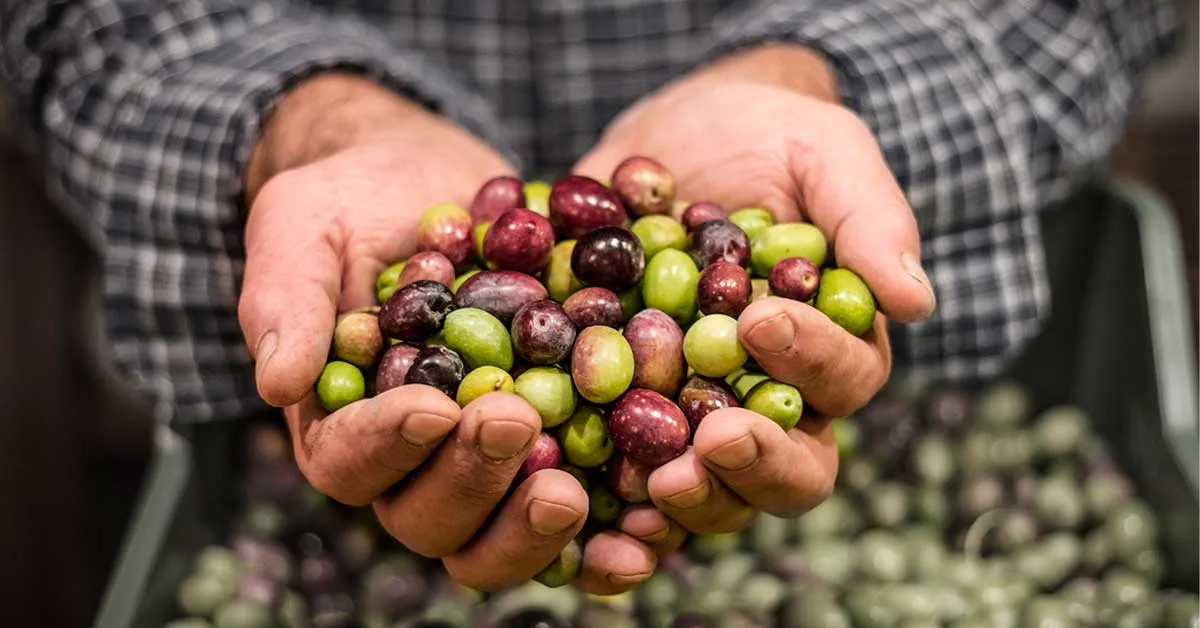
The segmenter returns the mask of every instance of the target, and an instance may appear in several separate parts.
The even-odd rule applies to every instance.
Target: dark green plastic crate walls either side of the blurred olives
[[[1048,210],[1054,312],[1012,369],[1040,405],[1091,414],[1162,518],[1168,584],[1196,590],[1198,417],[1194,334],[1174,216],[1153,191],[1112,181]],[[224,538],[236,508],[245,425],[162,427],[96,628],[158,627],[194,552]]]

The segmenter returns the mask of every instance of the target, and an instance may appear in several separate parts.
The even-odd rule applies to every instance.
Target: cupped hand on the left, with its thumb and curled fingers
[[[512,173],[448,120],[342,74],[288,94],[246,172],[239,318],[259,394],[284,408],[300,469],[340,502],[372,504],[397,540],[480,590],[528,580],[587,519],[587,494],[557,469],[505,500],[541,427],[538,413],[505,393],[460,409],[431,387],[404,385],[328,414],[313,384],[337,313],[374,303],[379,271],[415,251],[425,208],[464,203],[488,178]],[[643,538],[670,536],[656,530],[670,527],[656,512],[625,520]],[[654,564],[634,537],[605,533],[586,549],[581,586],[628,588]]]

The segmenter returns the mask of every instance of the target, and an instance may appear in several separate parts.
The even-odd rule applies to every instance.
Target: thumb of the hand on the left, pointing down
[[[320,376],[342,291],[343,241],[334,208],[298,203],[305,195],[290,187],[295,183],[281,175],[254,201],[238,301],[258,394],[277,407],[300,401]]]

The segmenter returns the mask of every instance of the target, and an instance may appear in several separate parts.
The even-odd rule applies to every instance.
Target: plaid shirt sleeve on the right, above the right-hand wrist
[[[1176,35],[1170,0],[792,0],[727,20],[712,56],[794,42],[829,60],[910,198],[938,295],[894,330],[898,365],[972,378],[1040,330],[1037,211],[1094,174]]]

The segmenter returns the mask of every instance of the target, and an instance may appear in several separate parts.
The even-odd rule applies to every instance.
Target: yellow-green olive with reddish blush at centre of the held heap
[[[583,399],[608,403],[634,381],[634,349],[616,329],[586,328],[571,351],[571,378]]]

